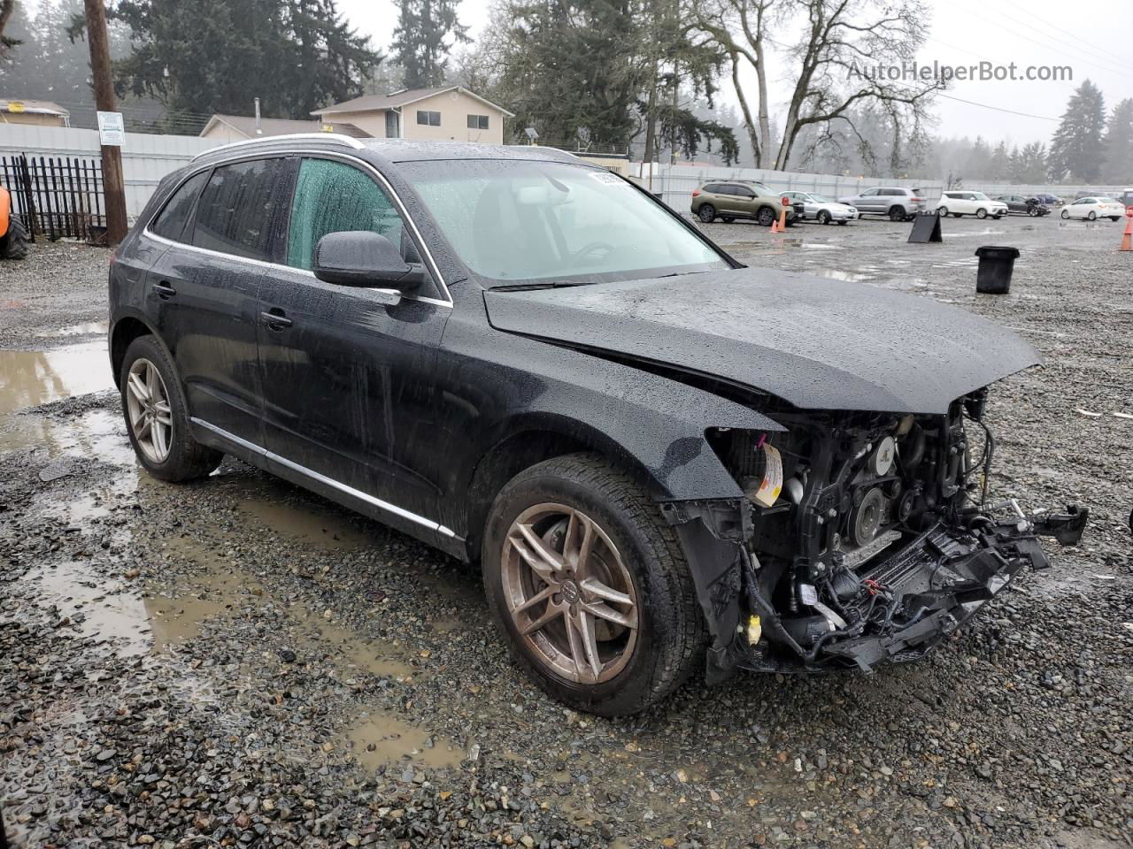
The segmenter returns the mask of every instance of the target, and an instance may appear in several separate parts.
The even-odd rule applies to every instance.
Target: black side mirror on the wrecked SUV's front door
[[[381,233],[348,230],[327,233],[315,246],[315,277],[340,286],[383,286],[402,292],[419,286],[425,278],[401,249]]]

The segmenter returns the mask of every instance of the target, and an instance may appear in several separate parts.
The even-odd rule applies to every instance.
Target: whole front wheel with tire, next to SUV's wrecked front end
[[[676,533],[602,457],[569,454],[512,478],[492,505],[482,567],[512,657],[572,707],[636,713],[704,660],[707,632]]]

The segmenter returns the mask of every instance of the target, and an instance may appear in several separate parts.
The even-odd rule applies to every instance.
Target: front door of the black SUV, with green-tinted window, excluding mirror
[[[265,278],[257,329],[267,449],[291,471],[384,503],[401,518],[436,515],[434,363],[451,314],[420,294],[324,283],[312,252],[326,233],[372,230],[417,259],[376,172],[334,158],[299,164],[286,268]]]

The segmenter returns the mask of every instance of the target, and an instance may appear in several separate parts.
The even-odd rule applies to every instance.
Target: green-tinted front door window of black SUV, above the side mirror
[[[304,160],[291,201],[287,264],[310,271],[318,240],[349,230],[369,230],[402,243],[401,216],[369,174],[343,162]]]

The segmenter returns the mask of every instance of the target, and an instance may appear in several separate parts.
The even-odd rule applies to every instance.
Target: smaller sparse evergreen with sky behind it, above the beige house
[[[459,0],[399,0],[393,54],[404,70],[406,88],[444,84],[449,51],[469,42],[468,27],[457,19]]]

